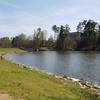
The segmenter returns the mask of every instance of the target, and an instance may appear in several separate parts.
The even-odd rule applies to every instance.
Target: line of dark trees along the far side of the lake
[[[70,32],[66,25],[53,25],[51,35],[47,38],[47,31],[38,28],[33,36],[20,34],[9,38],[0,38],[0,47],[17,47],[27,50],[100,50],[100,24],[93,20],[84,20],[77,25],[76,32]]]

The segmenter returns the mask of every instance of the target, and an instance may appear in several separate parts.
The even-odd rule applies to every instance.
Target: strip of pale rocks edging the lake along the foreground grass
[[[77,83],[80,86],[80,88],[92,90],[92,91],[96,92],[98,95],[100,95],[100,84],[93,84],[92,82],[87,81],[87,80],[68,77],[66,75],[53,74],[51,72],[47,72],[46,70],[40,70],[40,69],[35,68],[33,66],[28,66],[28,65],[16,62],[16,61],[10,59],[9,57],[7,57],[6,53],[4,54],[3,57],[4,57],[5,60],[10,61],[11,63],[18,65],[19,67],[28,68],[30,70],[35,70],[35,71],[44,73],[45,75],[50,75],[50,76],[53,76],[55,78],[62,79],[62,80],[65,80],[65,81],[71,80],[72,82]]]

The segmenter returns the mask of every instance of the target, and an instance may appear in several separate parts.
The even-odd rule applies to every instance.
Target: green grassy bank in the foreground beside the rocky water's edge
[[[95,94],[69,80],[56,79],[5,60],[0,61],[0,91],[25,100],[98,100]]]

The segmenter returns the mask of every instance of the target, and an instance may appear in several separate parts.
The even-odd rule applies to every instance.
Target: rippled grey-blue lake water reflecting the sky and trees
[[[10,59],[55,74],[100,83],[100,52],[10,53]]]

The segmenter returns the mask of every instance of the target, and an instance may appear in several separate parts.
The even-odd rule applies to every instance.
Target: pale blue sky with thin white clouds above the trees
[[[30,35],[38,27],[51,35],[55,24],[73,32],[88,19],[100,22],[100,0],[0,0],[0,37]]]

